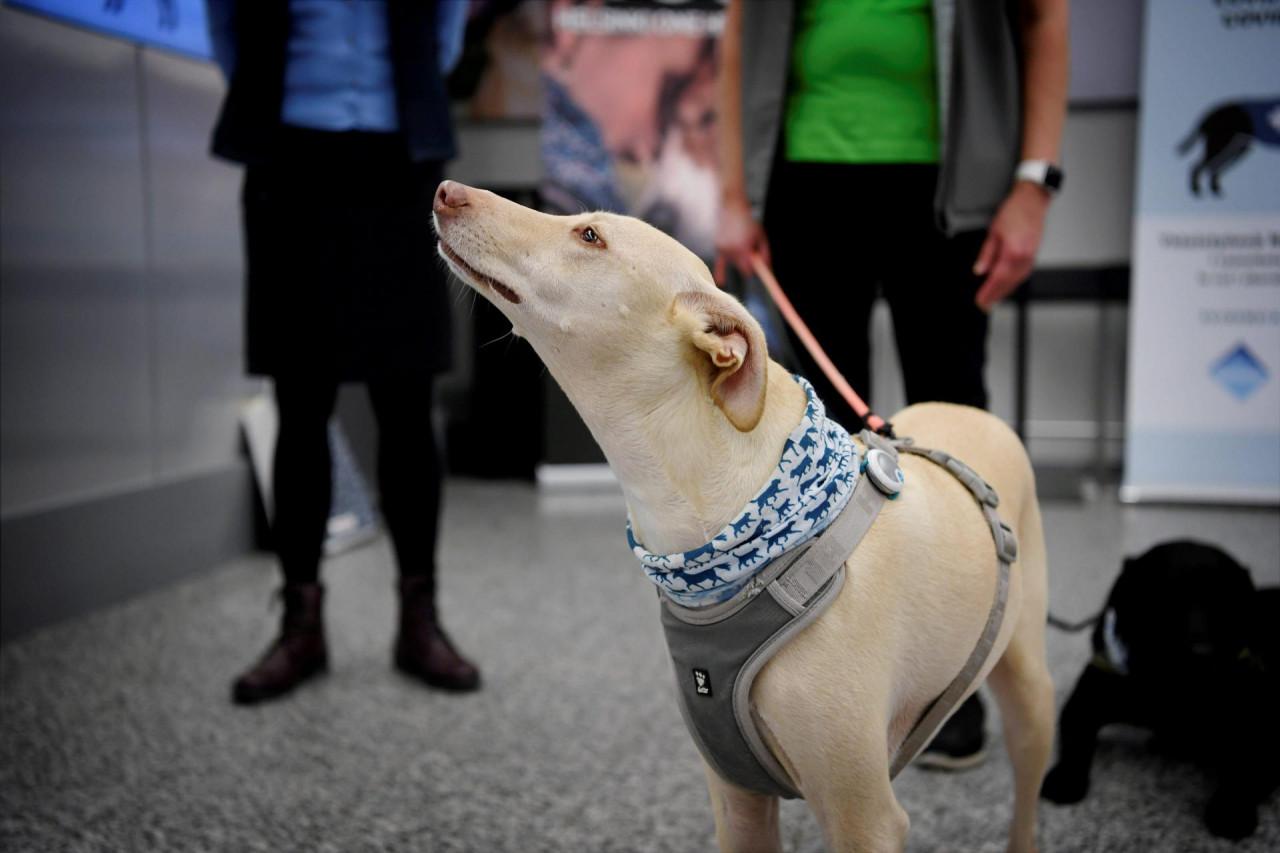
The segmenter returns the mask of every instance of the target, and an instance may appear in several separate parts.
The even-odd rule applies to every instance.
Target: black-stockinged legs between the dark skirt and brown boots
[[[378,482],[401,576],[435,578],[442,465],[431,429],[431,377],[369,380],[378,420]],[[333,494],[329,416],[337,379],[276,378],[275,548],[285,583],[315,583]]]

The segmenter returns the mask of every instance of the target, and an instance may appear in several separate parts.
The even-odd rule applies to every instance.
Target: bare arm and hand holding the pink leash
[[[719,101],[721,205],[716,227],[716,283],[724,283],[724,264],[751,275],[751,254],[771,264],[764,229],[751,215],[742,161],[742,0],[730,0],[721,36]]]

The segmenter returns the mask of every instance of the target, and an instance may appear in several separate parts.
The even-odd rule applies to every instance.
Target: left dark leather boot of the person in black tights
[[[280,635],[262,658],[232,685],[236,704],[253,704],[284,695],[307,679],[329,669],[324,642],[320,584],[285,584],[280,590],[284,616]]]

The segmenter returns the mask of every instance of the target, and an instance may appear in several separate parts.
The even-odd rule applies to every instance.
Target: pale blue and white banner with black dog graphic
[[[1280,0],[1148,0],[1121,498],[1280,503]]]

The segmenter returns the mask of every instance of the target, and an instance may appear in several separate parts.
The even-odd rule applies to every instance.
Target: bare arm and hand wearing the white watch
[[[1023,0],[1021,12],[1021,159],[1059,163],[1066,120],[1068,0]],[[975,297],[982,310],[989,311],[1027,280],[1044,232],[1048,202],[1050,195],[1042,187],[1014,182],[973,268],[977,275],[987,277]]]

